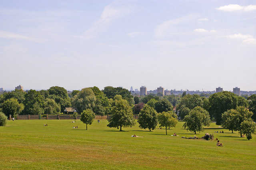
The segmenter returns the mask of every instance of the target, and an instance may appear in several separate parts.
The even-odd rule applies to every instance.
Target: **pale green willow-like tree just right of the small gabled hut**
[[[96,97],[91,88],[82,89],[78,95],[72,99],[72,106],[76,107],[78,111],[86,109],[93,110],[95,107]]]

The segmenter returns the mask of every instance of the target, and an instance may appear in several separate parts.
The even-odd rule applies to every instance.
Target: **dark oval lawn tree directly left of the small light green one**
[[[157,112],[149,105],[145,105],[140,111],[138,123],[140,128],[154,130],[157,126]]]

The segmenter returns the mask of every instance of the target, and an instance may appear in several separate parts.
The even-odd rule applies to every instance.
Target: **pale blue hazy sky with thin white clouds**
[[[0,88],[256,90],[255,0],[0,0]]]

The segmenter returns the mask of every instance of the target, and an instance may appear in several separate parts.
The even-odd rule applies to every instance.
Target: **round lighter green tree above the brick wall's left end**
[[[2,105],[2,111],[6,116],[12,115],[12,117],[16,117],[16,115],[20,114],[24,109],[24,105],[18,102],[18,99],[7,99],[4,101]]]

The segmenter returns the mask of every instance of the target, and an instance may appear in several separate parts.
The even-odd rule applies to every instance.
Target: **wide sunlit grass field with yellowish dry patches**
[[[0,169],[255,169],[256,135],[240,138],[211,124],[204,132],[216,140],[185,139],[182,128],[153,131],[107,127],[107,121],[86,126],[77,120],[15,120],[0,127]],[[47,123],[48,126],[43,126]],[[77,126],[78,128],[72,128]],[[214,133],[223,130],[224,133]],[[171,136],[176,132],[179,136]],[[143,136],[141,138],[132,135]]]

